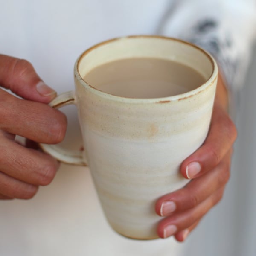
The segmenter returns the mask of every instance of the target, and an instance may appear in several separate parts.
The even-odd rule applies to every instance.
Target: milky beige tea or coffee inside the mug
[[[105,93],[127,98],[161,98],[186,93],[206,81],[184,64],[160,58],[127,58],[102,64],[84,80]]]

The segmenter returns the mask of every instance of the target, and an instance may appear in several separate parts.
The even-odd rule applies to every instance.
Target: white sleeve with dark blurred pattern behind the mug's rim
[[[160,33],[190,41],[217,60],[237,103],[256,39],[256,0],[179,0]]]

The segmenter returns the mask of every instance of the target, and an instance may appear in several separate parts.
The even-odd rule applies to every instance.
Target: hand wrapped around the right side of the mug
[[[209,134],[204,144],[180,167],[183,177],[191,182],[164,195],[156,203],[157,214],[166,217],[157,228],[162,238],[175,235],[178,241],[184,241],[223,196],[237,136],[236,127],[227,113],[227,102],[227,91],[219,76]]]

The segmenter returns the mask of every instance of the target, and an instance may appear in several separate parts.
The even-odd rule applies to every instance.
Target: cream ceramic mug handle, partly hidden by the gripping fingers
[[[53,108],[61,108],[65,105],[71,104],[75,104],[75,96],[73,91],[61,93],[55,99],[53,99],[52,102],[49,103],[49,106]],[[84,159],[82,151],[68,150],[61,148],[59,145],[49,145],[44,143],[39,143],[39,146],[43,151],[63,163],[87,166],[87,161]]]

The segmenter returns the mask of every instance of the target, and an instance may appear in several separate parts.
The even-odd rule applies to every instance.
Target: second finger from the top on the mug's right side
[[[168,216],[192,209],[225,186],[230,177],[230,154],[231,151],[211,172],[190,181],[182,189],[159,198],[155,205],[157,214]]]

